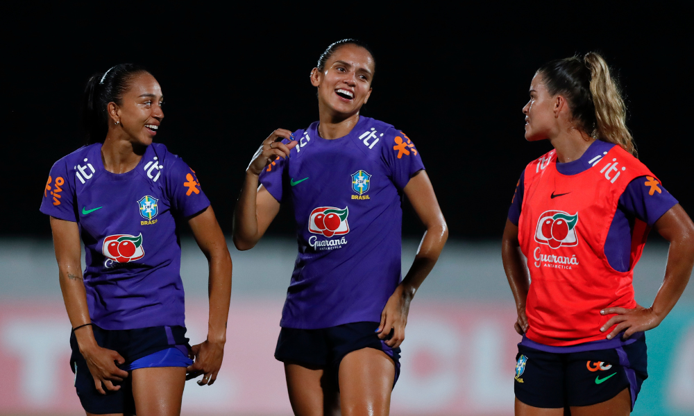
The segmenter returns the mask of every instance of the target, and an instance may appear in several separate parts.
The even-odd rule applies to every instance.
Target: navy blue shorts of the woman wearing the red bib
[[[590,406],[626,388],[633,410],[641,383],[648,378],[646,367],[643,333],[628,345],[564,354],[521,343],[516,356],[516,397],[539,408]]]

